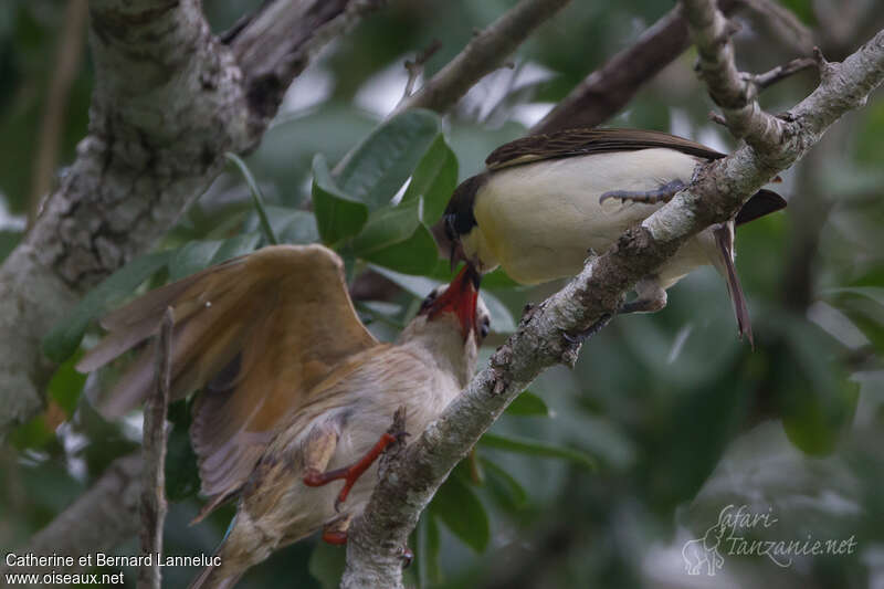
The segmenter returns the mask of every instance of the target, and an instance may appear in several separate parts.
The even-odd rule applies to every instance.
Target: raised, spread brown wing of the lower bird
[[[102,320],[108,335],[78,364],[104,366],[158,330],[175,311],[172,397],[203,389],[190,435],[212,508],[248,478],[266,443],[312,387],[377,345],[347,293],[343,263],[320,245],[264,248],[147,293]],[[152,347],[99,409],[119,416],[154,381]],[[208,512],[207,512],[208,513]]]

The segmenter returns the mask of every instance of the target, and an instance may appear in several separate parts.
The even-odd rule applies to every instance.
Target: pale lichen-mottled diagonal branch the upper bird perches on
[[[523,317],[518,332],[375,488],[350,528],[343,588],[402,586],[397,553],[421,511],[451,469],[534,378],[555,364],[572,361],[575,349],[562,333],[604,322],[639,278],[690,236],[732,218],[750,194],[810,149],[828,126],[864,104],[884,82],[884,31],[843,63],[827,64],[825,72],[818,88],[788,114],[788,120],[781,120],[782,143],[760,152],[744,146],[704,167],[688,189],[627,231],[565,288]]]

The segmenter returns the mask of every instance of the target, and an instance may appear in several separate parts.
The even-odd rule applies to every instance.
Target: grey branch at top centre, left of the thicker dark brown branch
[[[440,70],[421,90],[397,107],[429,108],[439,113],[453,106],[473,85],[504,64],[507,56],[537,27],[561,10],[570,0],[522,0],[494,21]]]

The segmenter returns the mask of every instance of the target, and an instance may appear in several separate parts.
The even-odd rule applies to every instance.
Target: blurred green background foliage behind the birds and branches
[[[29,211],[39,209],[38,190],[46,188],[38,183],[45,172],[38,165],[41,149],[52,155],[57,178],[86,132],[94,84],[87,52],[69,66],[61,122],[45,132],[48,103],[59,87],[52,85],[60,75],[57,40],[77,3],[84,10],[80,0],[0,4],[0,257],[21,238]],[[155,253],[90,294],[48,338],[51,356],[71,359],[52,380],[46,413],[0,450],[3,551],[23,545],[110,461],[137,448],[139,416],[107,423],[87,401],[106,389],[113,370],[90,379],[73,370],[93,317],[136,290],[272,239],[324,241],[345,259],[364,320],[378,337],[393,338],[420,297],[449,277],[429,228],[455,182],[480,170],[493,148],[524,135],[672,7],[655,0],[572,2],[450,115],[417,112],[383,123],[406,87],[407,59],[438,40],[440,49],[425,64],[424,78],[431,76],[474,29],[514,3],[397,0],[334,42],[295,81],[261,146],[244,158],[253,186],[231,164]],[[215,31],[259,4],[203,2]],[[873,0],[781,4],[814,30],[832,60],[884,27],[884,11]],[[840,11],[838,22],[833,11]],[[739,20],[735,40],[744,70],[761,72],[797,56],[790,39],[757,19]],[[85,43],[85,30],[74,33]],[[712,105],[693,63],[688,51],[609,124],[733,149],[733,138],[708,120]],[[785,111],[815,82],[815,74],[801,73],[767,91],[761,103]],[[785,213],[740,229],[737,265],[756,349],[735,337],[725,285],[711,269],[671,290],[663,312],[617,318],[583,346],[573,370],[539,378],[474,460],[455,470],[415,532],[411,583],[884,587],[882,98],[878,91],[781,175],[776,189],[790,200]],[[256,207],[257,192],[263,207]],[[559,285],[526,290],[496,275],[484,286],[494,309],[487,358],[523,306]],[[87,332],[85,345],[94,339]],[[188,410],[172,407],[170,417],[176,429],[168,491],[176,503],[166,550],[208,553],[232,511],[187,526],[199,509],[185,433]],[[686,576],[682,547],[702,537],[729,504],[777,518],[771,528],[748,530],[753,538],[853,536],[857,549],[796,558],[787,568],[765,557],[726,555],[715,577]],[[136,550],[135,540],[118,548]],[[241,586],[286,579],[295,587],[333,587],[343,554],[303,541],[256,567]],[[194,572],[166,569],[164,576],[179,587]],[[130,585],[134,578],[128,575]]]

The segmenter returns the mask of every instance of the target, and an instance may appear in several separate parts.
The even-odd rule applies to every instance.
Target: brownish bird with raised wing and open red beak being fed
[[[472,269],[430,293],[385,344],[359,320],[343,267],[318,244],[263,248],[110,313],[102,320],[108,335],[77,364],[101,368],[157,333],[172,308],[171,397],[201,389],[190,439],[208,502],[194,522],[236,499],[220,561],[193,588],[233,587],[318,530],[346,543],[377,483],[376,459],[422,432],[475,370],[490,315]],[[145,398],[151,356],[134,361],[102,413],[125,414]]]

